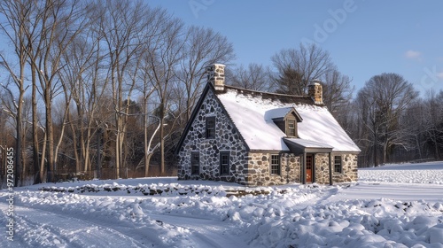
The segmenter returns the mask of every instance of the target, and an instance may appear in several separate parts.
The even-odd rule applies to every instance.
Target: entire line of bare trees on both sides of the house
[[[421,99],[400,75],[380,74],[354,96],[352,79],[314,44],[276,52],[272,67],[234,66],[224,35],[144,1],[5,0],[0,18],[2,182],[8,147],[16,186],[173,174],[213,63],[246,89],[305,95],[323,81],[324,104],[361,148],[361,165],[441,157],[442,92]]]

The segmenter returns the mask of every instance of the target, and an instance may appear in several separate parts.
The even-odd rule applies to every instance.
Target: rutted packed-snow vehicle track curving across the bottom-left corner
[[[0,203],[0,208],[5,205]],[[100,224],[42,209],[14,206],[16,233],[24,247],[145,247],[127,234]],[[14,247],[16,241],[9,243]],[[2,244],[3,245],[3,244]],[[22,246],[22,247],[23,247]]]

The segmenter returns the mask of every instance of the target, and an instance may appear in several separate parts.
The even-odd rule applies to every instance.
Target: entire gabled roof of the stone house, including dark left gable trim
[[[209,91],[216,94],[217,101],[235,124],[248,151],[293,151],[295,148],[306,152],[360,152],[328,109],[323,105],[315,105],[311,97],[273,94],[227,85],[223,91],[215,91],[211,83],[206,84],[194,107],[176,152],[180,150],[199,106]],[[274,122],[290,112],[294,112],[301,120],[297,125],[299,138],[286,138]]]

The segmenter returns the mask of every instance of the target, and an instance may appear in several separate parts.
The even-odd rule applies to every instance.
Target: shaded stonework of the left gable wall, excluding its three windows
[[[206,118],[215,117],[215,138],[206,138]],[[191,174],[190,154],[199,151],[200,173]],[[229,174],[220,174],[220,151],[229,151]],[[234,124],[209,90],[178,153],[180,180],[214,180],[245,184],[247,151]]]

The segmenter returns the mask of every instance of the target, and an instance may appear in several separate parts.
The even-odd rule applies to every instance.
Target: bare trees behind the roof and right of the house
[[[248,89],[306,95],[323,81],[323,103],[360,147],[359,167],[443,159],[443,91],[419,97],[414,85],[395,73],[374,75],[355,92],[330,54],[300,44],[271,58],[273,68],[251,64],[237,69],[232,84]]]

